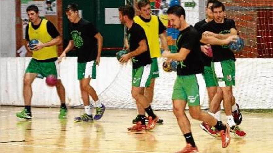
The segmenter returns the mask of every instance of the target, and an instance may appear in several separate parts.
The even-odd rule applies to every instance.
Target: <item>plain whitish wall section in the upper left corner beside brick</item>
[[[15,0],[0,0],[0,57],[15,56]]]

